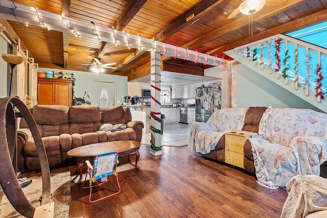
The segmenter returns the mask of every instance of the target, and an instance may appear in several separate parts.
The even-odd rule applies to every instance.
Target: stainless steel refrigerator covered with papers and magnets
[[[221,89],[217,84],[195,89],[195,121],[207,122],[215,110],[221,108]]]

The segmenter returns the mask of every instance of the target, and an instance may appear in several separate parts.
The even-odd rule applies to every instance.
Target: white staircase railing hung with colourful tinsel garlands
[[[234,51],[236,56],[267,70],[269,75],[274,74],[276,79],[284,79],[285,85],[293,82],[294,90],[300,88],[305,96],[314,95],[318,104],[325,99],[327,79],[323,78],[322,69],[327,65],[327,49],[324,47],[277,34],[236,47]]]

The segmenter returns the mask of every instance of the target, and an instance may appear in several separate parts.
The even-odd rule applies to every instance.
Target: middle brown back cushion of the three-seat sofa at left
[[[90,124],[100,122],[101,112],[98,106],[76,105],[69,108],[69,123]],[[94,131],[92,130],[92,132]]]

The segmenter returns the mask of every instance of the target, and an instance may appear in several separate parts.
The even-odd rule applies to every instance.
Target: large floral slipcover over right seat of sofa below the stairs
[[[327,114],[310,109],[268,108],[252,136],[258,183],[285,187],[298,174],[320,174],[327,160]]]

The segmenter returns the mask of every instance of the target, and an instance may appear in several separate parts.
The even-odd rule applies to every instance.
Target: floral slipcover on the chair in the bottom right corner
[[[281,218],[327,217],[326,184],[327,179],[316,175],[294,176],[286,185],[288,197]]]

